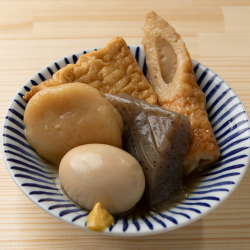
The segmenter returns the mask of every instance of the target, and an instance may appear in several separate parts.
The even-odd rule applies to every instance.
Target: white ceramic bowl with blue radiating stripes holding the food
[[[142,46],[129,46],[144,74],[147,74]],[[36,73],[18,91],[3,119],[1,148],[6,167],[23,193],[52,216],[71,225],[87,229],[88,212],[70,201],[58,184],[58,171],[46,163],[28,145],[24,137],[23,114],[26,102],[22,96],[52,77],[68,63],[75,63],[82,53],[66,56]],[[249,119],[239,97],[212,70],[193,60],[194,72],[206,95],[208,115],[217,138],[221,157],[200,173],[187,197],[171,209],[153,215],[132,213],[115,218],[115,225],[103,234],[141,236],[163,233],[194,222],[225,201],[243,178],[249,164]],[[87,229],[88,230],[88,229]]]

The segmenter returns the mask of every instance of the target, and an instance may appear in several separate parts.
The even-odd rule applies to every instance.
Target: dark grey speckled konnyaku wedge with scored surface
[[[182,199],[183,159],[190,143],[189,119],[127,94],[105,96],[123,116],[123,148],[143,168],[150,209],[160,211]]]

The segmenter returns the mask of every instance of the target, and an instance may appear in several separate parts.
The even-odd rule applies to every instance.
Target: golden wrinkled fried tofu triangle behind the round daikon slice
[[[76,64],[68,64],[52,79],[32,87],[23,99],[29,101],[41,89],[72,82],[89,84],[102,94],[126,93],[157,104],[156,93],[121,37],[114,37],[102,49],[81,55]]]

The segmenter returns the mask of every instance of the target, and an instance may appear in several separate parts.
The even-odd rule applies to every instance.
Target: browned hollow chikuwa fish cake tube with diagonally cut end
[[[206,98],[196,83],[185,43],[174,28],[155,12],[142,28],[148,73],[159,104],[189,118],[191,142],[184,173],[202,170],[215,162],[220,150],[206,112]]]

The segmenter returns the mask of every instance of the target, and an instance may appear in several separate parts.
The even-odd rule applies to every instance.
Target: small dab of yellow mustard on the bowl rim
[[[113,216],[102,208],[100,202],[96,203],[87,218],[87,228],[95,232],[102,232],[112,224],[114,224]]]

